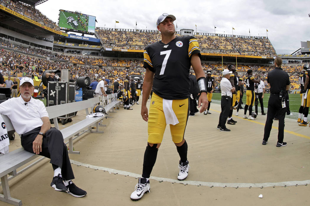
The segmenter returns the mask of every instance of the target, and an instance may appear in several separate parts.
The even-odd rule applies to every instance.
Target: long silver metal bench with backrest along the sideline
[[[107,117],[109,117],[110,112],[115,112],[115,110],[117,110],[117,107],[119,107],[120,105],[120,101],[117,100],[116,94],[111,94],[111,95],[108,95],[107,97],[104,97],[103,99],[101,99],[101,97],[95,97],[95,98],[91,98],[91,99],[80,101],[80,102],[73,102],[73,103],[46,107],[46,109],[47,109],[49,118],[54,119],[55,128],[59,129],[58,124],[57,124],[58,123],[57,117],[60,117],[60,116],[63,116],[65,114],[69,114],[75,111],[80,111],[83,109],[86,110],[86,115],[88,115],[89,114],[88,108],[92,109],[98,103],[101,103],[100,105],[102,105],[105,108],[108,114]],[[62,133],[64,137],[65,143],[66,144],[69,143],[68,153],[77,153],[77,154],[80,153],[78,151],[73,151],[73,140],[79,137],[80,135],[82,135],[83,133],[85,132],[103,133],[103,131],[99,131],[99,126],[105,126],[105,125],[99,124],[99,122],[103,121],[105,117],[106,116],[104,115],[102,117],[85,118],[82,121],[79,121],[75,124],[72,124],[60,130],[60,132]],[[7,126],[7,131],[14,130],[10,119],[5,115],[2,115],[2,118]],[[92,129],[92,125],[94,124],[96,126],[95,131]],[[29,163],[35,158],[38,158],[38,160],[24,167],[22,170],[16,172],[16,169]],[[39,156],[37,154],[27,152],[24,150],[24,148],[19,148],[12,152],[9,152],[7,154],[0,156],[0,177],[1,177],[1,184],[2,184],[2,189],[3,189],[3,194],[0,194],[0,200],[13,204],[13,205],[22,205],[21,200],[17,200],[11,197],[8,180],[13,179],[17,175],[29,169],[31,166],[42,161],[44,158],[45,157]],[[8,174],[11,176],[8,177]]]

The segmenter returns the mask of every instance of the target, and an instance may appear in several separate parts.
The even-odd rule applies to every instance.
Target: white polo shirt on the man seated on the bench
[[[25,105],[21,96],[11,98],[0,104],[0,114],[10,118],[15,131],[24,134],[43,125],[42,117],[48,117],[46,108],[38,99],[30,98]]]

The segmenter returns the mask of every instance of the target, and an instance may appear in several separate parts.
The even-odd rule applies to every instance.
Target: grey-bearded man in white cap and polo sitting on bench
[[[21,79],[20,97],[1,103],[0,113],[10,118],[26,151],[51,159],[54,169],[51,187],[74,197],[83,197],[86,191],[72,182],[74,175],[63,136],[59,130],[51,128],[43,102],[31,97],[33,90],[31,78]]]

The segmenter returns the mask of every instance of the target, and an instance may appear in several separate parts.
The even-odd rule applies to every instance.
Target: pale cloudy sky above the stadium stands
[[[180,29],[197,32],[266,36],[277,54],[289,54],[310,41],[309,0],[216,0],[216,1],[141,1],[141,0],[49,0],[38,6],[44,15],[58,22],[59,9],[81,11],[96,16],[96,27],[156,29],[162,13],[173,14]]]

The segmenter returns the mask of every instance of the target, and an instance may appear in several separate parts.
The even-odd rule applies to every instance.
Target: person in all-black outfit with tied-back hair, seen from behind
[[[270,135],[273,117],[277,114],[279,119],[278,128],[278,142],[277,147],[286,146],[286,142],[283,142],[284,138],[284,118],[286,114],[286,90],[290,88],[289,75],[281,69],[282,59],[276,57],[275,67],[268,73],[267,82],[270,86],[270,97],[268,101],[267,120],[264,129],[263,145],[266,145]]]

